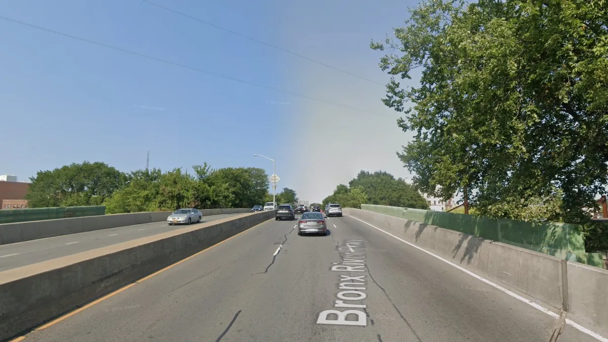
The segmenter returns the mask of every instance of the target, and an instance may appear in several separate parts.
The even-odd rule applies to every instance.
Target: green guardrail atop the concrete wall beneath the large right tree
[[[495,220],[476,215],[378,206],[375,204],[361,204],[361,209],[459,231],[483,239],[507,243],[527,250],[604,268],[602,254],[586,253],[585,239],[582,232],[578,226],[568,223],[533,225],[529,222],[516,220]]]

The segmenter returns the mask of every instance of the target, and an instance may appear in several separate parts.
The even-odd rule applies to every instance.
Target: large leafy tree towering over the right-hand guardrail
[[[608,184],[604,0],[430,0],[390,53],[386,106],[416,133],[398,153],[421,191],[467,194],[478,214],[584,220]],[[405,87],[421,68],[419,86]],[[407,102],[412,103],[407,108]]]

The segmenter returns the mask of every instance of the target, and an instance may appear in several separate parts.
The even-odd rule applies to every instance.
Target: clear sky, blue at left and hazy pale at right
[[[389,77],[370,39],[416,5],[152,2],[382,84]],[[0,16],[196,69],[0,19],[0,174],[26,180],[85,160],[128,172],[145,168],[148,150],[150,167],[162,170],[207,161],[271,174],[272,163],[253,156],[261,153],[277,160],[278,187],[309,201],[361,169],[409,176],[395,152],[411,136],[380,102],[382,85],[142,0],[4,1]]]

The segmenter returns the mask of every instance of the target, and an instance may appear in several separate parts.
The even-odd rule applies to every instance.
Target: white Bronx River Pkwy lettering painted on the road
[[[340,326],[367,326],[365,304],[349,304],[346,302],[362,301],[367,298],[365,274],[351,276],[351,272],[365,272],[365,240],[345,240],[344,245],[337,248],[342,263],[334,262],[331,271],[344,272],[340,274],[337,299],[334,307],[351,308],[348,310],[325,310],[319,313],[317,324],[336,324]],[[342,255],[344,253],[344,256]],[[362,310],[357,310],[357,309]],[[350,319],[348,319],[350,318]],[[355,318],[356,320],[353,320]]]

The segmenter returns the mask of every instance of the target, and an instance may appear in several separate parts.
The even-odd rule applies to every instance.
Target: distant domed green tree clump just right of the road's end
[[[348,182],[348,186],[339,184],[333,194],[323,200],[323,206],[328,203],[339,203],[350,208],[361,208],[361,204],[377,204],[429,209],[427,201],[418,190],[402,178],[396,179],[384,171],[370,173],[361,170],[356,178]]]

